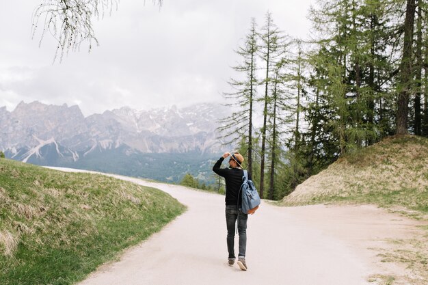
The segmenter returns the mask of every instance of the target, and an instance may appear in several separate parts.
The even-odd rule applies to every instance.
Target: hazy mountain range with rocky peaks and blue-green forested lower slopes
[[[225,148],[216,128],[229,111],[213,103],[148,111],[122,107],[85,118],[77,105],[21,102],[13,111],[0,108],[0,150],[36,165],[171,182],[190,173],[209,181],[213,161]]]

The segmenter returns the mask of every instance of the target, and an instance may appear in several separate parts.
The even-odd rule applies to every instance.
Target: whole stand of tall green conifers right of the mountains
[[[252,19],[224,94],[239,111],[219,129],[241,138],[263,198],[384,137],[428,137],[427,1],[321,0],[309,14],[309,39],[287,36],[269,12],[261,27]]]

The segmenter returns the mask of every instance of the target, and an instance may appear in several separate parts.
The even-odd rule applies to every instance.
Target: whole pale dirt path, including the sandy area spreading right
[[[80,285],[364,285],[386,284],[373,276],[407,274],[403,266],[380,262],[378,254],[388,248],[387,239],[416,234],[416,222],[374,206],[262,202],[249,217],[248,271],[241,271],[226,263],[224,196],[112,176],[170,193],[188,211]]]

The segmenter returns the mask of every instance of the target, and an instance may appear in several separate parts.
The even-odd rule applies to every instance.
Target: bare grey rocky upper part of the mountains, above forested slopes
[[[122,107],[84,118],[77,105],[21,102],[11,113],[0,109],[0,149],[34,148],[38,137],[54,138],[76,151],[93,148],[100,141],[120,141],[113,145],[146,153],[211,152],[219,145],[217,122],[227,113],[224,107],[208,103],[148,111]]]

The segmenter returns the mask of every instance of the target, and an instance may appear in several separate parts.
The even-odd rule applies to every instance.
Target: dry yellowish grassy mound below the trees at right
[[[282,200],[288,206],[376,204],[428,213],[428,139],[388,137],[345,155]]]

